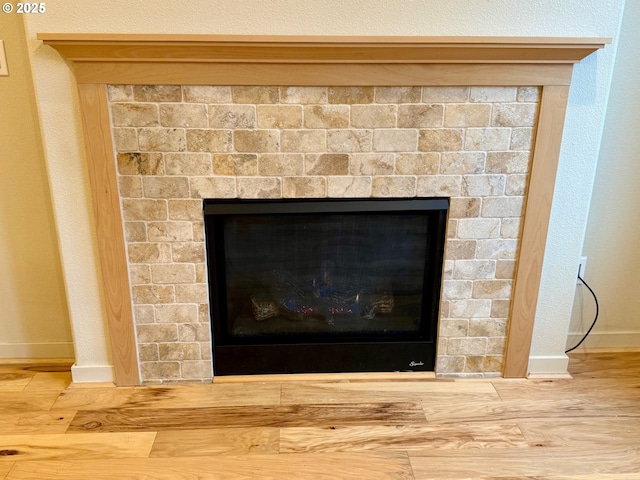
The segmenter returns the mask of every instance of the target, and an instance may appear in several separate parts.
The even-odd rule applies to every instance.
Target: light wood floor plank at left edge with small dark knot
[[[155,433],[0,435],[2,461],[148,457]]]

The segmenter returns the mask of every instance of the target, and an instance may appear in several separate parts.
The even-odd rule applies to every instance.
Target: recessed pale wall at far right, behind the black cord
[[[640,2],[628,1],[611,84],[583,253],[600,303],[587,348],[640,347]],[[594,302],[578,287],[569,346],[591,325]],[[581,348],[582,348],[581,347]]]

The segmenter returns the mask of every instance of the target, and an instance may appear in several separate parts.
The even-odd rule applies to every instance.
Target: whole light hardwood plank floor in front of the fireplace
[[[572,354],[559,380],[68,370],[0,365],[0,479],[640,479],[640,352]]]

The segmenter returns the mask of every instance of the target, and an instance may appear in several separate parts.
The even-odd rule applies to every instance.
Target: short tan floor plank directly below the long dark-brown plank
[[[152,457],[279,453],[279,428],[211,428],[158,432]]]

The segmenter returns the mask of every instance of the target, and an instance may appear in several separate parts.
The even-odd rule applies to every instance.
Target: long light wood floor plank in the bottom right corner
[[[409,453],[415,480],[467,478],[542,478],[551,475],[596,475],[640,472],[635,449],[507,448],[485,450],[437,450]],[[636,477],[637,478],[637,477]]]

